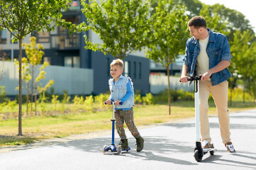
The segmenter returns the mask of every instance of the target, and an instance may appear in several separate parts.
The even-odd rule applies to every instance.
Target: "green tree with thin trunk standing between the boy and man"
[[[160,62],[167,69],[169,114],[169,66],[184,51],[185,42],[189,38],[188,18],[184,12],[184,6],[174,4],[173,0],[162,0],[150,18],[150,40],[146,56],[156,63]]]

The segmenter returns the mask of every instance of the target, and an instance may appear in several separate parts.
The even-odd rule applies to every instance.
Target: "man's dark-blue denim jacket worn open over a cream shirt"
[[[231,62],[230,47],[228,45],[228,39],[221,33],[213,33],[209,28],[209,40],[206,47],[206,53],[209,58],[209,69],[215,67],[222,60],[228,60]],[[186,52],[184,56],[184,64],[189,68],[189,75],[194,76],[196,74],[196,60],[200,52],[199,40],[195,40],[194,37],[189,38],[186,42]],[[231,77],[228,68],[211,74],[211,84],[213,86],[226,81]]]

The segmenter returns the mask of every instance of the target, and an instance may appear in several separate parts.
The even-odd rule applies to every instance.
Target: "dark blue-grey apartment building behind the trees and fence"
[[[80,1],[72,1],[68,11],[63,13],[65,21],[79,24],[86,21],[84,14],[80,11]],[[62,67],[74,67],[82,69],[93,69],[94,82],[93,94],[106,93],[108,91],[108,79],[111,78],[109,64],[114,59],[111,55],[102,52],[85,50],[84,34],[93,42],[99,41],[94,33],[74,33],[69,35],[65,28],[57,27],[52,32],[32,33],[24,38],[23,42],[29,43],[30,36],[35,36],[37,42],[45,48],[42,62]],[[7,30],[0,31],[0,47],[9,58],[18,58],[18,43],[11,42],[11,33]],[[23,57],[26,56],[23,50]],[[124,60],[124,75],[129,76],[134,83],[135,91],[146,94],[150,91],[149,74],[150,60],[143,57],[143,52],[136,52]]]

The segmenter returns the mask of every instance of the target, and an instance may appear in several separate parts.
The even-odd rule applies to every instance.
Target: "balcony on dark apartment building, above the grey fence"
[[[79,34],[50,35],[50,47],[55,50],[78,50],[80,48]]]

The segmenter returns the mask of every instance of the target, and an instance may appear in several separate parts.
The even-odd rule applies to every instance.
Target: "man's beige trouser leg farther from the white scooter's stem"
[[[223,143],[230,142],[230,122],[228,113],[228,81],[213,86],[211,94],[218,112]]]

